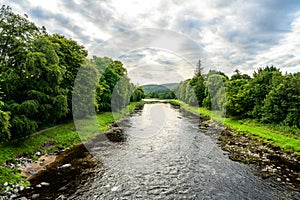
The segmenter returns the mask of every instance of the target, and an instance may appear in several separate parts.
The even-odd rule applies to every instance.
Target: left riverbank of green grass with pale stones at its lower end
[[[76,145],[81,144],[83,141],[87,141],[99,133],[103,133],[108,130],[113,122],[123,118],[125,115],[132,113],[137,107],[143,105],[144,102],[134,102],[123,109],[119,113],[103,112],[97,114],[97,120],[100,125],[99,129],[94,127],[85,128],[89,129],[88,136],[82,138],[78,135],[74,122],[70,122],[54,129],[40,132],[39,134],[33,134],[32,136],[20,141],[8,142],[0,145],[0,189],[2,192],[13,192],[14,189],[24,189],[29,185],[28,178],[24,176],[24,168],[31,165],[31,163],[37,164],[40,167],[39,158],[42,159],[42,168],[46,165],[50,165],[55,162],[53,156],[59,155],[65,149],[73,148]],[[50,158],[49,162],[45,162]],[[23,175],[22,175],[23,172]],[[15,190],[16,191],[16,190]]]

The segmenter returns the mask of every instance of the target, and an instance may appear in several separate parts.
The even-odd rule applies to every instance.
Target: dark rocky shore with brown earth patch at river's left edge
[[[123,130],[115,123],[108,131],[95,136],[92,140],[99,140],[99,138],[108,139],[112,142],[121,142],[126,139]],[[25,156],[16,158],[14,163],[17,164],[8,163],[7,165],[20,170],[30,181],[30,186],[23,187],[19,184],[7,182],[4,185],[4,195],[0,196],[0,200],[16,198],[22,200],[27,198],[42,199],[44,195],[51,196],[51,191],[56,193],[57,189],[63,192],[67,188],[72,188],[72,181],[74,180],[70,177],[73,177],[73,175],[69,174],[80,174],[83,169],[92,169],[94,165],[95,160],[92,159],[92,155],[89,154],[86,147],[89,149],[88,143],[85,145],[79,144],[72,149],[60,149],[50,155],[42,155],[41,152],[36,152],[35,156],[38,157],[36,161]],[[42,181],[39,178],[40,176],[43,177]],[[65,178],[61,178],[61,176]],[[59,181],[65,179],[67,182],[57,182],[56,179]],[[51,182],[51,185],[49,182]]]

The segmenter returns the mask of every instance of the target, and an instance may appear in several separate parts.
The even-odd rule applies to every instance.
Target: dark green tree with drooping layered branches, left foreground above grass
[[[55,45],[41,36],[33,41],[22,65],[2,74],[6,88],[5,108],[11,112],[13,138],[28,135],[39,126],[55,123],[66,116],[66,90],[60,87],[64,72]]]

